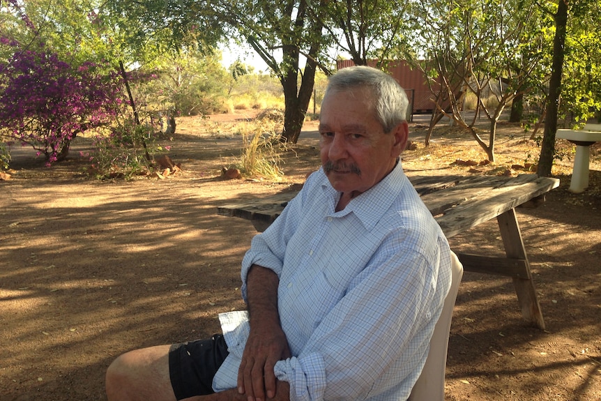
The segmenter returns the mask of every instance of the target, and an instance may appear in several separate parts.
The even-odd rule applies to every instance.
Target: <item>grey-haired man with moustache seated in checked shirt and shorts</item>
[[[242,262],[223,335],[131,351],[109,400],[406,400],[450,287],[450,249],[402,171],[407,99],[369,67],[330,77],[322,167]]]

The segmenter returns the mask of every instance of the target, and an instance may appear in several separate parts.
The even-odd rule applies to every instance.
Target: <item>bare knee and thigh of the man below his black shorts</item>
[[[107,370],[109,401],[175,401],[169,379],[169,345],[119,356]]]

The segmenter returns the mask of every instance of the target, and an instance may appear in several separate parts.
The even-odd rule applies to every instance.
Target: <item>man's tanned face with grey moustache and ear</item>
[[[372,188],[406,145],[406,123],[384,133],[368,89],[330,91],[319,119],[321,164],[335,190],[351,197]]]

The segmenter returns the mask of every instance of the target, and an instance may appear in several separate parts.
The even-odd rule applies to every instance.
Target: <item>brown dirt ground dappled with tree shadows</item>
[[[315,123],[285,152],[281,182],[232,179],[236,123],[252,112],[178,119],[169,145],[183,171],[166,179],[96,181],[72,156],[47,168],[13,148],[0,181],[0,400],[105,400],[115,356],[218,332],[219,312],[243,308],[239,264],[256,234],[217,206],[289,190],[319,166]],[[496,162],[465,133],[441,126],[425,148],[425,121],[410,124],[417,149],[407,174],[519,174],[538,155],[503,124]],[[601,160],[591,186],[572,194],[572,146],[554,174],[561,186],[519,209],[546,331],[522,320],[508,278],[466,272],[450,331],[446,400],[601,400]],[[528,155],[530,155],[528,157]],[[596,155],[596,156],[595,156]],[[454,163],[455,162],[455,163]],[[450,239],[464,252],[502,254],[496,222]]]

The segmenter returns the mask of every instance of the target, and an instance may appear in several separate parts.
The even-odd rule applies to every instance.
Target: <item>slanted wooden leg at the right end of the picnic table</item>
[[[499,222],[499,229],[501,230],[501,237],[505,246],[505,255],[510,258],[524,259],[526,261],[528,277],[513,278],[517,299],[519,305],[522,307],[522,316],[534,326],[545,330],[545,320],[542,319],[542,311],[540,310],[536,289],[532,281],[530,264],[528,263],[528,257],[526,257],[526,249],[524,248],[524,241],[522,241],[522,232],[520,232],[519,225],[517,224],[515,209],[510,209],[497,216],[496,220]]]

